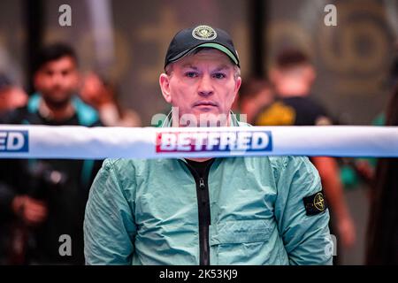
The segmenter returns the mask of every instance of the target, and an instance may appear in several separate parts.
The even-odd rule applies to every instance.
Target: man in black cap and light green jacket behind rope
[[[159,82],[174,111],[164,126],[245,126],[230,111],[241,76],[225,31],[176,34]],[[88,198],[86,263],[331,264],[328,221],[306,157],[108,159]]]

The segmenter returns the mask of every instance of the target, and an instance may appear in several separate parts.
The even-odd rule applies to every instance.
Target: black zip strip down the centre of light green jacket
[[[196,195],[198,204],[199,219],[199,264],[210,265],[210,246],[209,246],[209,226],[210,226],[210,198],[208,177],[210,166],[207,165],[204,176],[199,176],[190,164],[187,163],[189,171],[192,173],[196,183]]]

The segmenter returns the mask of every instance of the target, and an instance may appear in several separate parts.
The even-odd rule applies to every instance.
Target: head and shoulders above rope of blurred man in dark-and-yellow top
[[[282,50],[270,71],[277,100],[257,113],[256,125],[331,125],[325,109],[310,97],[315,78],[310,58],[302,51]]]

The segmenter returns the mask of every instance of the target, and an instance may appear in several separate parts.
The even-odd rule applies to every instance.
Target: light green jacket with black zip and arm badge
[[[307,216],[303,203],[321,190],[307,157],[217,158],[208,183],[210,264],[332,264],[329,212]],[[199,264],[197,206],[184,159],[105,160],[86,208],[86,263]]]

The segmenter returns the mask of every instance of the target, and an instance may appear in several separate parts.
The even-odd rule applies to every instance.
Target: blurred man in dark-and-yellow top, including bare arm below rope
[[[256,126],[332,125],[325,108],[311,98],[315,78],[310,58],[301,50],[281,51],[270,72],[277,99],[258,113]],[[310,160],[318,169],[330,204],[332,233],[337,230],[338,242],[349,248],[356,241],[356,228],[344,199],[338,164],[333,157],[311,157]],[[339,244],[337,246],[339,248]]]

